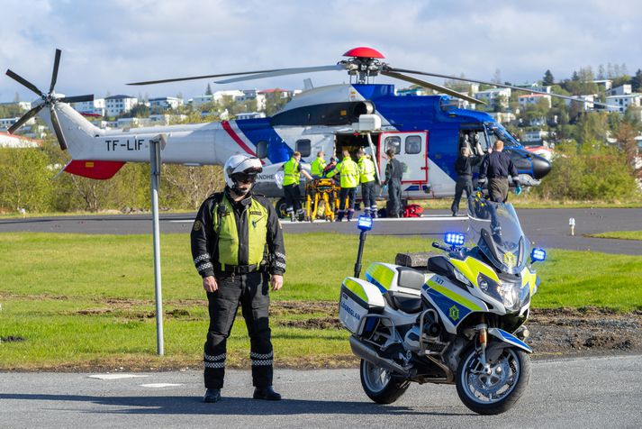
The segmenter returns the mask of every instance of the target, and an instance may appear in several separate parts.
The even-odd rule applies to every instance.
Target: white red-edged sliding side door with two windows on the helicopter
[[[385,178],[389,149],[394,150],[394,158],[403,163],[403,185],[411,185],[405,190],[424,190],[428,186],[428,132],[382,132],[379,135],[379,170]],[[415,189],[416,187],[416,189]]]

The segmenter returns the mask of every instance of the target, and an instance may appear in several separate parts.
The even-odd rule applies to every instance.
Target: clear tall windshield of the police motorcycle
[[[471,196],[468,219],[468,239],[497,269],[520,274],[528,261],[530,242],[521,230],[513,206]]]

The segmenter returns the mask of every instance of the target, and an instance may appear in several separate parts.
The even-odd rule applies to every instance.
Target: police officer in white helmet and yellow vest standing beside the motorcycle
[[[255,399],[279,400],[272,388],[269,283],[283,287],[285,247],[276,210],[251,189],[262,171],[258,158],[232,156],[223,167],[225,190],[201,205],[192,228],[192,256],[209,302],[204,346],[204,402],[221,400],[226,340],[239,308],[248,326]],[[270,278],[271,276],[271,278]]]

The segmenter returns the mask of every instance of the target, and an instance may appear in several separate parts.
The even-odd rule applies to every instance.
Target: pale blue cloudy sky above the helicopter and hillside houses
[[[63,50],[56,89],[132,96],[202,94],[207,80],[152,87],[126,82],[263,68],[334,64],[357,46],[399,68],[513,83],[574,69],[625,63],[642,68],[642,8],[634,0],[166,1],[0,0],[0,69],[49,87],[53,54]],[[341,83],[342,72],[250,81],[231,87]],[[390,82],[380,79],[380,82]],[[442,83],[442,79],[435,79]],[[405,86],[405,85],[403,85]],[[34,96],[0,77],[0,101]]]

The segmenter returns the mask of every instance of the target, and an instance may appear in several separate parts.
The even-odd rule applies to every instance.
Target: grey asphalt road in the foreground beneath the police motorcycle
[[[228,371],[218,404],[200,402],[200,371],[89,375],[0,374],[0,426],[603,428],[642,421],[642,356],[535,361],[527,393],[496,416],[470,412],[454,386],[413,384],[396,403],[379,406],[363,393],[357,370],[276,370],[285,397],[276,403],[249,399],[249,371]]]

